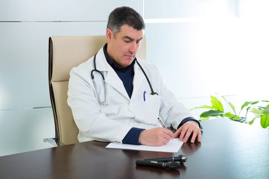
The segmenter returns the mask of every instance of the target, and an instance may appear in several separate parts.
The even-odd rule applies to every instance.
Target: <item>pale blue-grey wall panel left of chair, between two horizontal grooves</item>
[[[51,106],[48,41],[55,35],[103,35],[106,22],[0,23],[0,109]]]

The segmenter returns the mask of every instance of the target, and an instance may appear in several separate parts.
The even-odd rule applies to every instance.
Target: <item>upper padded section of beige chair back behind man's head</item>
[[[146,37],[141,41],[137,57],[146,59]],[[52,36],[49,38],[49,80],[69,80],[69,72],[107,43],[105,35]]]

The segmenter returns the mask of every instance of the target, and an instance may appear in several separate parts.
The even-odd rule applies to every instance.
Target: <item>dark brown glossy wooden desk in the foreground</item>
[[[269,178],[269,131],[217,119],[202,122],[202,143],[178,153],[107,149],[85,142],[2,156],[0,178]],[[184,154],[179,170],[136,166],[136,160]]]

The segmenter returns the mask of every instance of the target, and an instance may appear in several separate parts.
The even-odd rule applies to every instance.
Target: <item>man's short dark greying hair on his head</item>
[[[140,14],[126,6],[116,8],[110,13],[107,29],[110,29],[116,35],[123,25],[128,25],[136,30],[144,30],[146,28]]]

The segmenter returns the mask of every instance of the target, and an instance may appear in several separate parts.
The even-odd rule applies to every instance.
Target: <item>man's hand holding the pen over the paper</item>
[[[139,143],[149,146],[162,146],[167,144],[174,133],[163,127],[142,130],[139,136]]]

